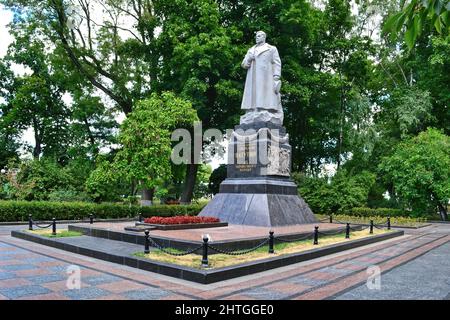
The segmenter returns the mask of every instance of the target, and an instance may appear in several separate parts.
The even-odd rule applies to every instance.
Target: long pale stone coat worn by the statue
[[[255,55],[253,61],[249,59],[251,53]],[[248,70],[241,108],[281,110],[281,82],[273,78],[275,75],[281,76],[281,60],[277,48],[267,43],[251,47],[242,61],[242,67]],[[276,87],[278,93],[275,93]]]

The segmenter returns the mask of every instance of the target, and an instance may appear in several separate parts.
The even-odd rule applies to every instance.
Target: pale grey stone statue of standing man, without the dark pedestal
[[[247,78],[241,106],[246,113],[241,124],[264,121],[282,125],[281,60],[277,48],[266,43],[265,32],[256,33],[256,45],[247,51],[242,67],[247,69]]]

